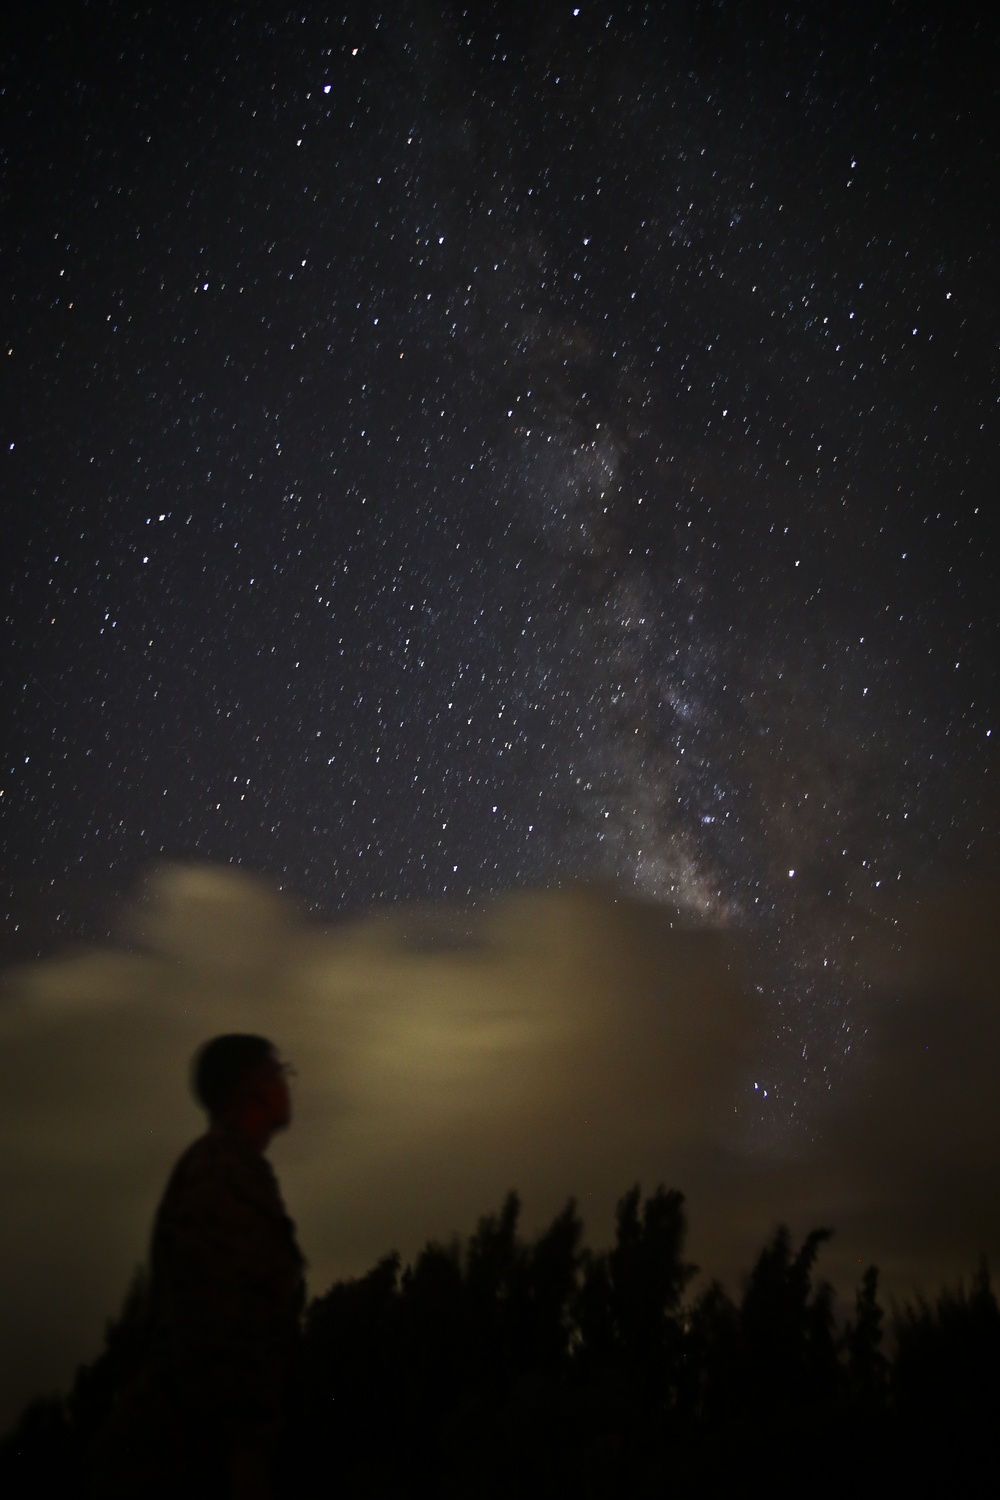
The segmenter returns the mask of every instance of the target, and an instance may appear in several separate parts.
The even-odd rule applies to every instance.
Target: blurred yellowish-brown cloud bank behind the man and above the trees
[[[1000,1245],[994,910],[955,897],[870,940],[864,1065],[819,1137],[774,1160],[742,1146],[763,1038],[723,932],[582,888],[324,932],[264,882],[162,870],[129,915],[139,952],[24,966],[0,1002],[0,1422],[94,1353],[201,1130],[190,1054],[228,1029],[298,1066],[273,1158],[316,1292],[466,1233],[511,1186],[529,1228],[574,1194],[606,1240],[633,1180],[685,1190],[712,1272],[778,1216],[832,1222],[844,1278],[858,1260],[901,1288],[970,1269]]]

